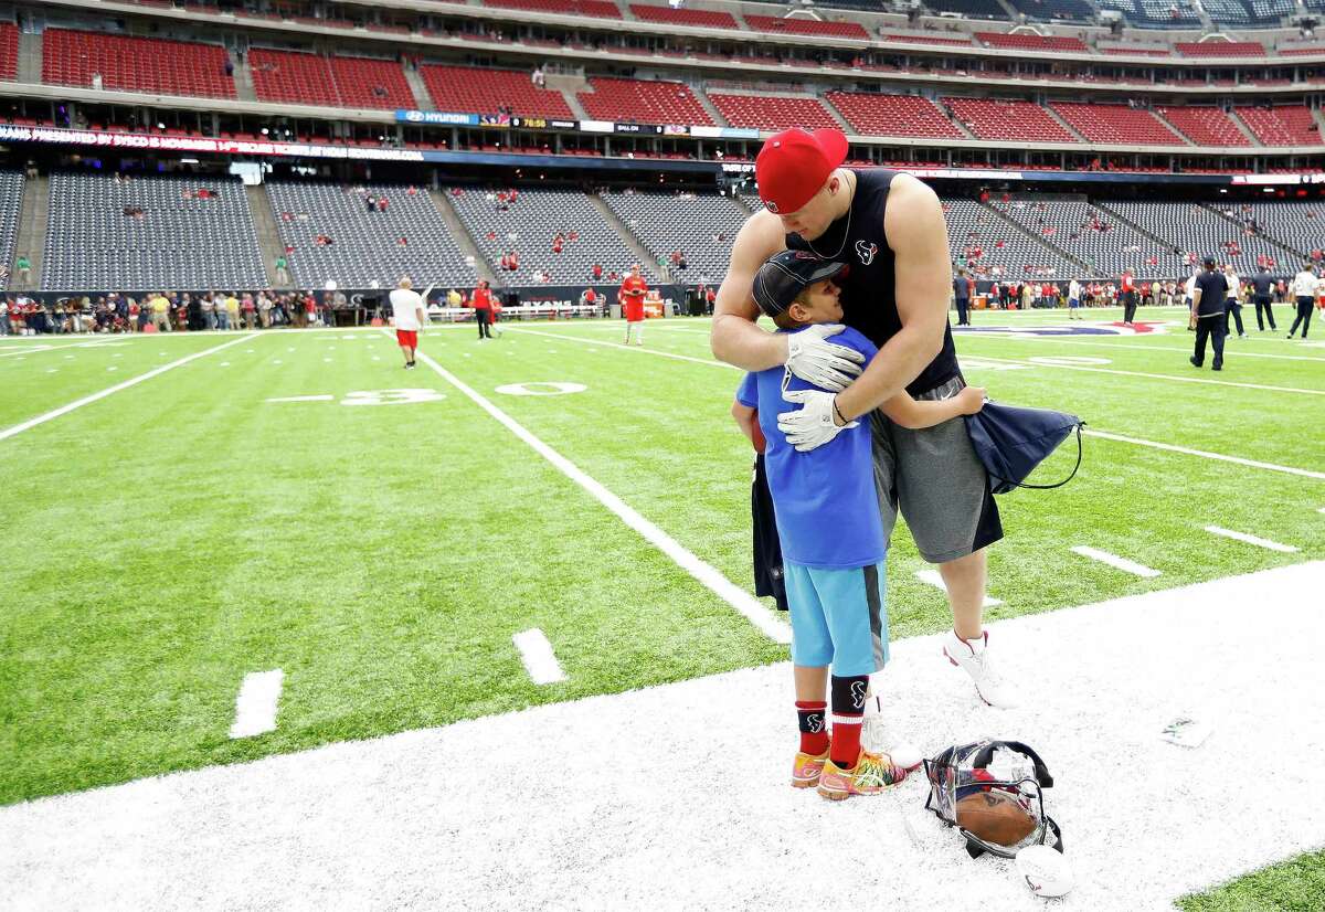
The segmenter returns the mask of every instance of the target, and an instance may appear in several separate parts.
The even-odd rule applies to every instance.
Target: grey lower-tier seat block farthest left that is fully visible
[[[186,194],[209,190],[211,199]],[[140,208],[142,217],[126,215]],[[41,288],[208,290],[266,288],[253,215],[233,178],[50,175]]]

